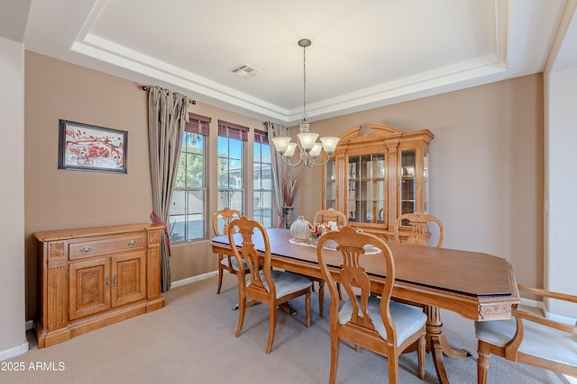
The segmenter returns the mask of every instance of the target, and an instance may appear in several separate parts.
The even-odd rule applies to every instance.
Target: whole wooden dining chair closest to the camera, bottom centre
[[[339,253],[323,247],[327,240],[336,242]],[[373,255],[365,255],[367,245],[372,245]],[[373,251],[375,248],[378,252]],[[340,340],[353,343],[357,349],[361,346],[386,356],[390,383],[398,382],[399,354],[417,344],[418,377],[424,379],[426,315],[417,308],[390,299],[395,282],[395,262],[389,246],[379,237],[344,227],[320,237],[316,253],[331,294],[329,382],[336,380]],[[371,295],[371,281],[365,272],[369,265],[386,267],[387,279],[379,297]],[[348,295],[340,309],[335,279],[340,281]]]

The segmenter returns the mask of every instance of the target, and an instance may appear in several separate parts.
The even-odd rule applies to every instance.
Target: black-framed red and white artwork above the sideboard
[[[126,174],[128,132],[60,120],[58,168]]]

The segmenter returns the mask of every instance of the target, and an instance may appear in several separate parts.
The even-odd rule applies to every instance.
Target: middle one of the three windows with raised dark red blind
[[[249,129],[218,121],[218,210],[244,212],[244,142]]]

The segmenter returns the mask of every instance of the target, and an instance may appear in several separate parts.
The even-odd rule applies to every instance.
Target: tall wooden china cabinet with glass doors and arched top
[[[401,132],[380,124],[345,132],[324,167],[323,209],[347,215],[350,225],[390,241],[395,220],[429,207],[428,129]],[[401,240],[410,233],[400,227]]]

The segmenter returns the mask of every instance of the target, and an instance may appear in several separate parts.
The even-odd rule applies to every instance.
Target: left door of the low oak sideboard
[[[70,263],[70,320],[110,308],[110,262],[107,258]]]

